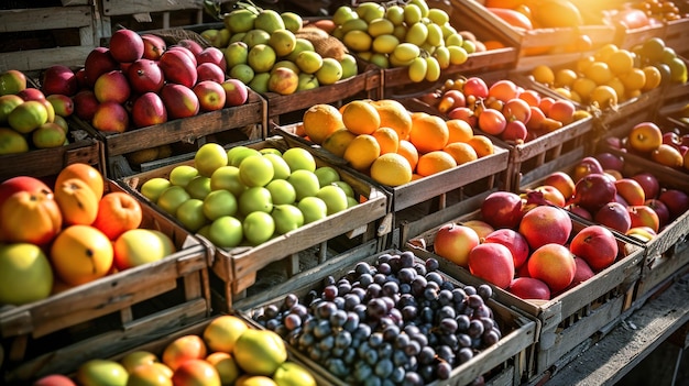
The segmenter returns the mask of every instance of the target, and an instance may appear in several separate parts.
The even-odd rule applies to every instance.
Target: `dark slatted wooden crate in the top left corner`
[[[86,1],[63,4],[0,10],[0,71],[84,63],[98,46],[94,7]]]

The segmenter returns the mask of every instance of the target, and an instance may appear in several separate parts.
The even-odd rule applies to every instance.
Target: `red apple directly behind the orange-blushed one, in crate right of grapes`
[[[524,214],[520,223],[520,233],[524,235],[532,250],[545,244],[564,245],[569,240],[572,222],[567,211],[560,208],[539,206]]]

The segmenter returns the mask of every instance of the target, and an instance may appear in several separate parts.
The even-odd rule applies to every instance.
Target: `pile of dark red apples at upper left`
[[[94,128],[121,133],[243,104],[247,86],[226,79],[225,69],[219,48],[188,38],[167,46],[157,35],[122,29],[108,47],[94,48],[83,68],[44,71],[42,89],[70,97],[75,114]]]

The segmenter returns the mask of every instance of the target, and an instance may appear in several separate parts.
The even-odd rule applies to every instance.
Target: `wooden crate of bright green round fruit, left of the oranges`
[[[214,145],[222,148],[219,144]],[[204,147],[201,147],[201,152],[206,152]],[[210,148],[210,146],[207,148]],[[254,228],[253,231],[250,231],[249,224],[253,223],[253,220],[245,221],[250,217],[249,214],[251,212],[265,211],[265,209],[252,209],[255,207],[252,202],[263,202],[263,194],[267,192],[267,199],[270,199],[269,207],[273,208],[271,212],[280,214],[280,212],[274,208],[278,205],[278,200],[288,199],[289,190],[275,190],[274,199],[272,198],[272,190],[264,186],[256,186],[245,190],[242,189],[237,192],[236,196],[238,197],[237,202],[239,208],[238,211],[234,211],[234,216],[228,214],[221,217],[220,219],[214,219],[214,221],[208,221],[208,227],[201,227],[204,229],[197,227],[196,229],[199,234],[207,238],[215,246],[211,264],[211,288],[214,289],[214,301],[217,304],[217,309],[219,310],[230,311],[233,308],[233,302],[238,299],[242,299],[247,295],[251,295],[252,293],[255,294],[261,290],[270,291],[272,289],[267,288],[272,288],[275,283],[280,283],[280,280],[284,278],[284,275],[293,276],[300,272],[304,266],[322,264],[327,260],[332,258],[332,256],[347,252],[356,245],[362,245],[362,247],[365,247],[367,251],[373,252],[380,249],[376,229],[379,227],[379,222],[387,213],[387,196],[376,186],[359,179],[358,176],[341,168],[339,165],[333,165],[316,158],[305,148],[289,147],[282,137],[275,136],[269,137],[262,142],[249,144],[247,146],[229,145],[227,151],[228,158],[231,156],[231,159],[234,161],[229,161],[227,163],[228,166],[225,167],[225,169],[228,169],[228,172],[232,168],[239,169],[238,165],[243,164],[243,161],[247,159],[244,157],[253,157],[255,155],[260,155],[262,152],[275,153],[275,151],[278,151],[283,155],[291,151],[291,155],[284,158],[285,162],[287,162],[288,158],[304,159],[306,164],[313,164],[316,169],[329,170],[337,174],[337,178],[335,175],[330,175],[330,177],[339,180],[337,183],[332,180],[330,184],[326,184],[326,179],[324,179],[324,183],[319,183],[316,179],[315,183],[319,186],[319,188],[316,188],[315,190],[319,190],[326,185],[335,184],[341,186],[343,183],[349,187],[349,189],[351,189],[351,206],[339,211],[328,210],[328,212],[320,212],[319,209],[317,209],[319,207],[313,206],[310,207],[311,210],[308,210],[307,207],[310,206],[310,203],[303,203],[302,201],[316,201],[313,199],[304,199],[308,196],[307,191],[311,190],[311,179],[316,177],[314,176],[314,173],[305,173],[306,170],[298,172],[298,165],[300,162],[293,163],[291,161],[289,163],[292,163],[293,167],[289,167],[287,164],[287,172],[291,169],[294,170],[292,173],[287,173],[286,175],[293,183],[296,181],[294,184],[295,187],[299,185],[305,187],[299,191],[303,191],[306,196],[299,194],[297,200],[298,203],[304,205],[304,210],[302,210],[302,212],[304,212],[304,221],[299,225],[292,227],[292,221],[285,218],[286,225],[284,228],[281,225],[280,229],[277,228],[278,221],[269,221],[271,223],[275,223],[275,233],[264,236],[261,234],[264,230],[269,230],[270,227],[262,223],[258,229]],[[240,154],[240,152],[243,152],[243,155]],[[249,165],[250,163],[247,164]],[[141,199],[147,200],[147,198],[145,198],[146,195],[144,195],[147,189],[145,184],[147,181],[153,181],[153,179],[161,181],[161,178],[175,180],[176,178],[173,175],[178,173],[175,172],[175,168],[183,165],[187,168],[190,166],[198,167],[200,163],[197,159],[194,159],[183,164],[173,164],[155,170],[125,177],[123,183],[127,184],[134,191],[134,194],[143,195],[144,197]],[[296,175],[302,175],[302,177],[291,177],[294,172],[297,172]],[[238,173],[240,172],[238,170]],[[241,173],[243,174],[245,172]],[[216,185],[216,183],[212,181],[211,184],[216,186],[223,186],[226,188],[216,189],[216,191],[229,190],[232,192],[231,175],[223,173],[218,173],[217,175],[219,177],[216,177],[215,179],[219,180],[219,185]],[[225,179],[222,175],[226,175]],[[258,172],[255,172],[255,175],[259,175]],[[275,180],[280,179],[287,180],[285,177],[281,177]],[[302,180],[300,184],[298,183],[299,180]],[[289,181],[287,181],[286,185],[293,186]],[[277,185],[275,185],[275,187],[277,187]],[[251,190],[250,195],[243,195],[243,192],[248,190]],[[242,196],[249,198],[242,199]],[[256,197],[256,199],[251,199],[251,197]],[[249,200],[252,202],[249,202]],[[327,198],[322,200],[328,202]],[[157,198],[155,201],[158,210],[165,210],[165,208],[167,208],[165,206],[166,200],[162,201]],[[291,200],[291,202],[293,201],[294,199]],[[275,202],[275,205],[273,202]],[[284,208],[285,206],[296,207],[296,205],[292,206],[284,203],[281,208]],[[302,205],[299,205],[299,207],[302,207]],[[287,209],[285,209],[283,213],[288,213]],[[179,211],[175,212],[177,220],[182,221],[178,214]],[[307,216],[307,212],[310,212],[314,216]],[[172,211],[168,210],[168,213],[172,214]],[[271,217],[270,214],[267,216]],[[241,238],[234,241],[231,241],[230,239],[233,239],[232,234],[237,233],[232,231],[231,224],[226,221],[226,219],[230,217],[233,219],[242,218],[241,222],[239,220],[233,220],[234,223],[239,223],[239,227],[243,228],[243,232],[239,232]],[[256,216],[253,216],[253,218],[260,219]],[[227,225],[222,225],[223,223],[227,223]],[[216,227],[214,227],[214,224],[216,224]]]

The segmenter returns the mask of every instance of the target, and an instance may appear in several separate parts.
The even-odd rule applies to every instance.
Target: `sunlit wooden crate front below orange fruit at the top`
[[[612,25],[581,25],[579,27],[553,27],[534,29],[524,31],[515,29],[502,19],[489,12],[481,0],[451,0],[452,7],[461,10],[468,19],[479,19],[481,23],[492,25],[493,29],[503,31],[512,42],[516,42],[520,56],[545,55],[547,53],[562,53],[568,46],[576,44],[579,36],[588,35],[593,47],[613,43],[615,29]],[[546,47],[542,49],[542,47]],[[547,48],[551,47],[551,48]],[[566,52],[566,51],[565,51]]]

